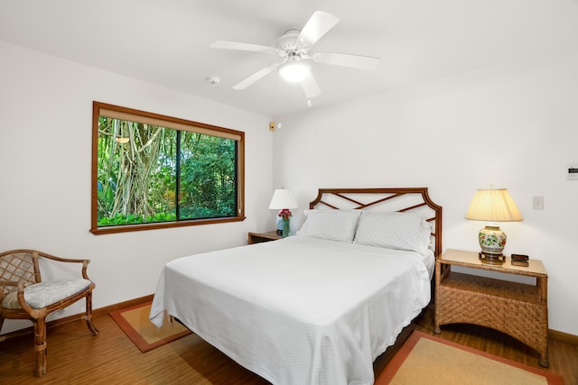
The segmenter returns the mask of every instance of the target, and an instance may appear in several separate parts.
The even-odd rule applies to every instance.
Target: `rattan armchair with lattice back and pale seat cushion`
[[[39,260],[82,263],[82,278],[43,282]],[[5,319],[30,319],[34,325],[34,374],[46,373],[46,317],[86,298],[86,321],[90,332],[98,335],[92,325],[92,290],[89,260],[71,260],[35,250],[12,250],[0,253],[0,330]],[[41,262],[43,264],[43,262]]]

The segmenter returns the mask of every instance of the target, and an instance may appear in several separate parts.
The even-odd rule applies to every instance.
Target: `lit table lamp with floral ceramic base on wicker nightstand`
[[[466,219],[488,222],[478,234],[481,247],[480,260],[488,263],[503,263],[505,259],[502,252],[506,245],[506,234],[499,229],[497,222],[523,219],[508,189],[479,189],[471,199]]]

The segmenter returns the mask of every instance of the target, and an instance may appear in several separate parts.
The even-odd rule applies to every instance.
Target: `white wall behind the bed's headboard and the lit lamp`
[[[505,252],[542,260],[550,328],[578,335],[578,57],[513,63],[277,119],[274,186],[306,208],[317,188],[424,186],[443,249],[477,251],[477,188],[508,188],[523,222]],[[544,197],[544,210],[532,197]]]

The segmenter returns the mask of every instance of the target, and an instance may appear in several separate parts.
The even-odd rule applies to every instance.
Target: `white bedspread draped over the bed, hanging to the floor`
[[[430,300],[433,256],[293,236],[166,264],[163,310],[274,384],[372,384]]]

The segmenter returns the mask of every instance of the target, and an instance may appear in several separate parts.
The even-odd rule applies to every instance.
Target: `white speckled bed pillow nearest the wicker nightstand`
[[[364,211],[359,218],[354,242],[424,254],[431,233],[430,226],[418,215]]]

